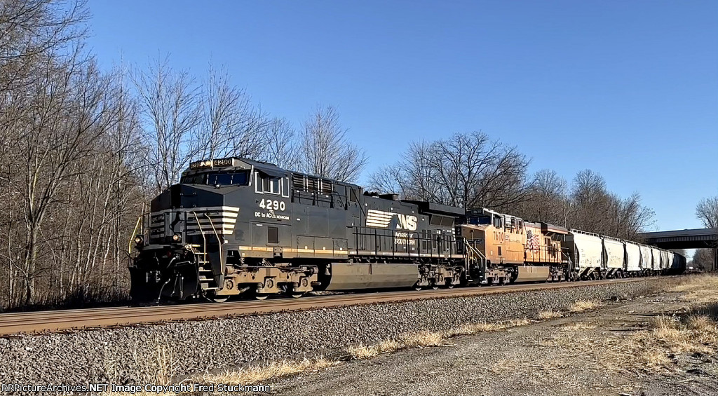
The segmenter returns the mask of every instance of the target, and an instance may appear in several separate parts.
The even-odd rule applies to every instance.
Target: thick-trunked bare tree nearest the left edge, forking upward
[[[57,204],[62,185],[73,177],[74,166],[93,155],[95,143],[114,123],[107,113],[108,87],[94,62],[81,55],[57,63],[48,60],[44,80],[34,87],[24,133],[17,141],[17,174],[14,185],[22,197],[24,221],[24,300],[32,304],[38,275],[42,226]],[[87,66],[82,66],[86,64]]]

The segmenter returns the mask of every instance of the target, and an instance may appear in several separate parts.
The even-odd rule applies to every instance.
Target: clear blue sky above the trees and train
[[[103,67],[210,60],[299,123],[334,105],[370,166],[409,141],[482,130],[530,171],[602,174],[655,229],[718,195],[718,1],[101,1]],[[365,181],[365,178],[364,180]]]

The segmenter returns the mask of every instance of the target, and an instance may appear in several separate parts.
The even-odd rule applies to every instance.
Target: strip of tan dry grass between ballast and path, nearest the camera
[[[254,385],[272,378],[286,377],[300,372],[314,372],[340,364],[325,358],[299,361],[282,360],[262,366],[251,366],[238,370],[227,370],[218,374],[204,374],[195,381],[201,384]]]

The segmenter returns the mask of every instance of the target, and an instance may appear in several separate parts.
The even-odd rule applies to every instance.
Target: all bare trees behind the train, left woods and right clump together
[[[241,156],[355,182],[368,164],[336,108],[295,124],[223,67],[197,75],[158,57],[101,70],[87,22],[83,0],[0,2],[0,310],[127,298],[139,216],[190,161]],[[454,133],[411,143],[368,187],[627,239],[653,220],[593,171],[569,183],[528,164],[485,133]]]

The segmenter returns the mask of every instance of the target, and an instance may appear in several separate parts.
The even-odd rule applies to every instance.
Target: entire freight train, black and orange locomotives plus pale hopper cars
[[[136,301],[566,281],[681,265],[656,248],[639,246],[637,256],[633,242],[240,158],[193,162],[139,224],[129,268]]]

